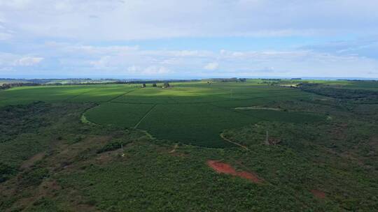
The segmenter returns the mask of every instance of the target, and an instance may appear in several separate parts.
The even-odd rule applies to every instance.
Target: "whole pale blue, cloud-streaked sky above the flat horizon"
[[[378,78],[377,8],[373,0],[0,0],[0,78]]]

